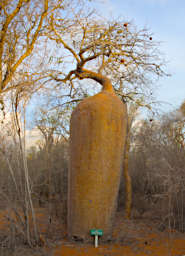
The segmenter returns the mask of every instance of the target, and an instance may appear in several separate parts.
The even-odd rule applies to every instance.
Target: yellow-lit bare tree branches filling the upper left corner
[[[82,2],[79,0],[78,2]],[[74,1],[75,2],[75,1]],[[43,87],[44,69],[51,45],[45,28],[53,13],[67,26],[73,1],[4,0],[0,3],[0,104],[4,109],[5,93],[14,89],[33,92]],[[77,4],[77,3],[76,3]],[[75,5],[74,5],[75,8]],[[39,71],[39,74],[38,74]],[[3,99],[4,98],[4,99]]]

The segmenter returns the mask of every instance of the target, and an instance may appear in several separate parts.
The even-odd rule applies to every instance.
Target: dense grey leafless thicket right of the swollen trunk
[[[133,214],[137,209],[137,217],[156,216],[161,230],[176,228],[184,232],[184,147],[182,140],[179,143],[176,139],[181,134],[176,129],[177,120],[179,112],[174,110],[152,122],[140,123],[132,134],[129,170]]]

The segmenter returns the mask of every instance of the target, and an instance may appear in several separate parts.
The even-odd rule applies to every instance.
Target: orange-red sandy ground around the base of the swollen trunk
[[[113,240],[98,248],[92,244],[69,242],[66,227],[57,220],[48,226],[44,209],[37,209],[37,221],[43,244],[30,249],[20,245],[14,250],[6,246],[8,223],[6,211],[0,212],[0,256],[185,256],[185,233],[159,231],[154,220],[124,220],[117,214]],[[4,237],[4,240],[3,240]]]

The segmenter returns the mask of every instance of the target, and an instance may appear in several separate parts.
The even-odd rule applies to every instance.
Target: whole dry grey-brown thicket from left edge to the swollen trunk
[[[14,249],[19,244],[31,247],[36,244],[42,245],[40,238],[39,241],[36,241],[34,237],[34,219],[30,205],[26,202],[25,176],[21,169],[21,159],[17,158],[19,156],[17,151],[18,145],[12,144],[4,153],[0,154],[0,161],[3,163],[0,166],[0,213],[3,214],[6,222],[6,232],[0,233],[0,245],[2,248],[10,249]],[[27,164],[33,209],[34,211],[41,207],[46,209],[45,214],[48,215],[49,227],[55,225],[55,218],[58,218],[60,223],[66,223],[67,146],[63,142],[58,143],[50,152],[49,157],[52,159],[50,184],[47,183],[48,168],[45,165],[44,155],[44,149],[38,151],[32,149],[32,152],[28,153]],[[6,158],[8,161],[5,161]],[[37,228],[39,235],[40,230],[38,226]],[[49,231],[50,229],[48,229]],[[50,236],[54,237],[54,232],[55,230]],[[58,232],[57,229],[56,232]],[[29,239],[27,239],[28,234]]]

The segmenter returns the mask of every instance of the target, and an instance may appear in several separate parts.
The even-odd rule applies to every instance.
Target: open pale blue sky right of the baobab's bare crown
[[[122,17],[147,27],[162,42],[171,77],[159,80],[157,100],[168,103],[164,111],[178,107],[185,99],[185,0],[102,0],[98,9],[106,18]]]

